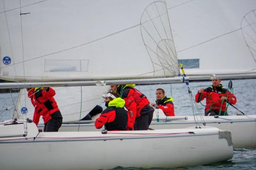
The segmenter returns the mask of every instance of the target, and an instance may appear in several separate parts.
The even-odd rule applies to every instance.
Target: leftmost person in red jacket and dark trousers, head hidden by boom
[[[33,122],[38,125],[39,119],[43,116],[44,131],[58,131],[62,124],[62,115],[53,96],[55,91],[52,88],[31,88],[27,89],[28,97],[35,107]]]

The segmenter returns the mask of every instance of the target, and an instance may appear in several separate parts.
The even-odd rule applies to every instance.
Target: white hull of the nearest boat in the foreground
[[[174,168],[211,164],[233,157],[231,133],[212,127],[107,134],[41,132],[34,140],[38,132],[33,123],[28,123],[28,139],[6,137],[22,135],[23,124],[0,126],[1,170]],[[20,131],[15,131],[17,128]]]

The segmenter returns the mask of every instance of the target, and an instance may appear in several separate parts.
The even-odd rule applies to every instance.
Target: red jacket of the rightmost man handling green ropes
[[[200,99],[201,96],[201,100]],[[226,101],[223,101],[221,106],[221,97],[225,96],[228,97],[228,102],[231,104],[236,104],[236,96],[231,94],[227,89],[222,87],[220,84],[219,87],[214,87],[213,85],[211,87],[208,87],[207,89],[204,89],[204,91],[200,94],[197,92],[195,99],[196,102],[199,103],[200,101],[204,100],[206,98],[206,106],[205,111],[212,109],[212,110],[220,110],[225,111],[226,110]]]

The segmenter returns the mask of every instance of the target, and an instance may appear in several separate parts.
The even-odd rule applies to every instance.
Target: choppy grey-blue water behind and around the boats
[[[221,84],[227,88],[229,80],[221,81]],[[233,93],[236,96],[237,103],[236,108],[247,115],[256,114],[256,79],[242,79],[242,80],[232,80],[233,83]],[[193,112],[191,109],[191,103],[189,100],[188,87],[192,91],[192,97],[196,95],[200,88],[207,88],[211,86],[211,81],[193,81],[189,82],[186,86],[185,83],[172,83],[172,84],[157,84],[157,85],[137,85],[136,88],[144,93],[150,102],[155,101],[155,91],[157,88],[162,88],[165,90],[166,96],[173,97],[175,115],[177,116],[192,116]],[[13,105],[16,103],[18,93],[0,93],[0,122],[3,120],[11,119],[13,113]],[[103,108],[104,103],[99,103]],[[205,105],[205,100],[202,102]],[[204,106],[198,103],[200,112],[204,114]],[[7,109],[7,110],[6,110]],[[241,114],[240,111],[236,110],[232,106],[228,107],[229,115]],[[256,131],[256,130],[255,130]],[[207,152],[207,151],[205,151]],[[150,161],[150,160],[149,160]],[[86,166],[86,165],[85,165]],[[116,169],[124,170],[144,170],[144,168],[123,168],[116,167]],[[171,168],[149,168],[150,170],[162,169],[167,170]],[[207,166],[194,166],[185,167],[178,169],[200,169],[200,170],[210,170],[210,169],[255,169],[256,170],[256,149],[255,148],[243,148],[234,149],[234,157],[231,160],[220,162],[217,164],[207,165]]]

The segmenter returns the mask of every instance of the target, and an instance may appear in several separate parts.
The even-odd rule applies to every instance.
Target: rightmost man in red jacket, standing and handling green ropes
[[[196,96],[196,102],[206,98],[205,116],[228,115],[226,110],[226,102],[236,104],[236,96],[231,94],[221,84],[221,79],[213,79],[212,86],[207,89],[201,88]]]

